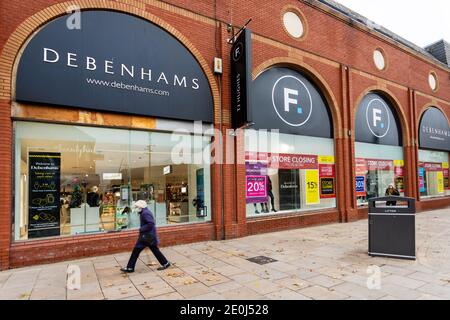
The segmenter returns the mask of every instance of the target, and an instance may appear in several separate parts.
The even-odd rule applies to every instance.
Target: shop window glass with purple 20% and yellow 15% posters
[[[277,136],[272,146],[247,137],[247,216],[336,207],[333,139]]]

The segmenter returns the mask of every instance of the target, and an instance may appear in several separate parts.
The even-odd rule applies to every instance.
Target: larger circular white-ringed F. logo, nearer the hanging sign
[[[308,87],[294,76],[284,76],[275,82],[272,103],[280,119],[292,126],[301,127],[312,114],[312,97]]]

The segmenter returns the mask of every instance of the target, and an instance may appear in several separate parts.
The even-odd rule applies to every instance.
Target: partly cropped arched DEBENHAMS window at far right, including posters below
[[[424,112],[419,126],[419,191],[421,198],[450,195],[450,127],[438,108]]]

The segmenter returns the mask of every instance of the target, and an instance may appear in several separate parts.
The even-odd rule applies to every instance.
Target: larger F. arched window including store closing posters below
[[[300,72],[282,67],[263,72],[252,88],[247,216],[336,207],[333,126],[320,91]]]

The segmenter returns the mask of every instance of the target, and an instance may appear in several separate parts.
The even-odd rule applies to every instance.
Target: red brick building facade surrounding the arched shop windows
[[[448,207],[450,196],[420,196],[419,124],[435,107],[450,118],[450,68],[431,56],[357,22],[322,1],[185,1],[79,0],[2,2],[0,29],[0,269],[69,258],[125,251],[136,231],[72,235],[15,241],[14,121],[92,125],[139,130],[154,129],[147,116],[51,106],[15,100],[17,64],[37,30],[65,15],[70,5],[83,10],[112,10],[140,17],[167,31],[196,58],[213,97],[214,127],[231,128],[230,49],[228,39],[250,18],[253,79],[274,66],[304,74],[323,95],[331,115],[335,150],[336,207],[248,217],[243,164],[211,166],[211,221],[159,229],[163,245],[243,237],[317,224],[349,222],[367,217],[367,206],[356,200],[355,117],[370,92],[382,94],[393,106],[401,126],[405,195],[417,199],[418,210]],[[290,36],[283,14],[295,12],[303,36]],[[433,40],[433,39],[431,39]],[[379,70],[373,53],[380,50],[386,66]],[[213,72],[214,57],[223,59],[223,74]],[[429,85],[429,75],[437,88]],[[224,145],[226,149],[228,146]],[[242,150],[241,150],[242,151]],[[448,154],[447,154],[448,155]],[[448,163],[448,161],[447,161]],[[223,180],[222,180],[223,177]],[[17,197],[17,195],[16,195]]]

